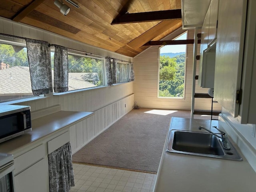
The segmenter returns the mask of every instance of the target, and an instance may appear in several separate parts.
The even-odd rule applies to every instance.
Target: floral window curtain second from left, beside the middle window
[[[68,48],[56,45],[54,51],[54,92],[68,91]]]

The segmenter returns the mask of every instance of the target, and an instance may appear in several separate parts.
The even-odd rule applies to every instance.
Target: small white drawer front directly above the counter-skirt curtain
[[[51,152],[55,151],[56,149],[60,148],[62,145],[66,144],[69,142],[69,131],[61,134],[60,136],[50,140],[47,142],[48,146],[48,154]]]

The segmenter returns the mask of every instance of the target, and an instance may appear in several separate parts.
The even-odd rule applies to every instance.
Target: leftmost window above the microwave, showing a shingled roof
[[[32,97],[26,43],[0,40],[0,102]]]

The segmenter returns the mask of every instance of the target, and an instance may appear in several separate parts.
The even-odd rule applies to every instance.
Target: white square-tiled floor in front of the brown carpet
[[[70,192],[152,192],[156,174],[73,163]]]

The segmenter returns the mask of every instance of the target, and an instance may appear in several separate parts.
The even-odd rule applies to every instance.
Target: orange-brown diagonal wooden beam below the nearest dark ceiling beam
[[[150,30],[138,36],[136,39],[129,42],[127,45],[130,46],[131,48],[137,49],[178,23],[182,24],[182,21],[181,20],[162,21],[156,26],[154,26],[153,28],[151,28]]]

